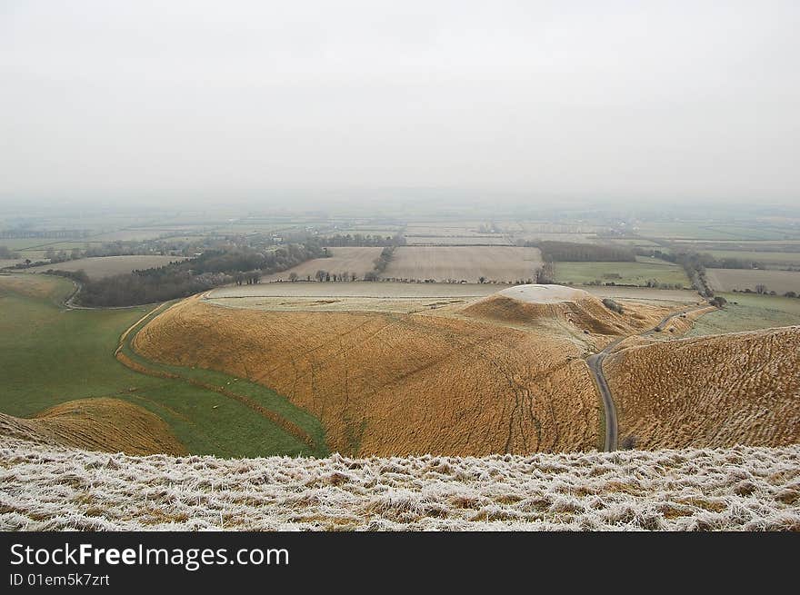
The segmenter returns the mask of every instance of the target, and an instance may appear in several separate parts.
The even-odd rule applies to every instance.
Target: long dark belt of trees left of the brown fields
[[[269,252],[237,248],[212,250],[165,266],[89,279],[85,273],[54,272],[82,283],[78,300],[86,306],[130,306],[164,302],[226,283],[258,283],[262,274],[285,271],[325,255],[316,243],[290,244]]]

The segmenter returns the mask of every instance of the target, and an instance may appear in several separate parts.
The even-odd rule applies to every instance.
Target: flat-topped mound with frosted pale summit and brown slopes
[[[626,304],[615,312],[591,293],[563,285],[517,285],[467,306],[466,316],[508,324],[571,325],[576,332],[618,335],[655,326],[668,312],[644,304]]]

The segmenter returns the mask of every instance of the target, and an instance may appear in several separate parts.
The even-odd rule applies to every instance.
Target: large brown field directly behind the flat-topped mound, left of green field
[[[401,246],[385,279],[435,279],[478,283],[480,277],[515,283],[535,277],[542,265],[538,248],[514,246]]]

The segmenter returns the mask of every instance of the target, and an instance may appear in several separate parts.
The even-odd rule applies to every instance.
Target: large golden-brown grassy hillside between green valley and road
[[[483,455],[598,443],[570,338],[464,318],[267,312],[187,300],[139,332],[151,360],[261,382],[317,416],[333,451]]]

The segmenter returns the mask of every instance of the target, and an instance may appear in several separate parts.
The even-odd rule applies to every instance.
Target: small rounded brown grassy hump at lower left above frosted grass
[[[126,454],[186,452],[164,421],[119,399],[65,402],[30,420],[0,413],[0,436]]]

